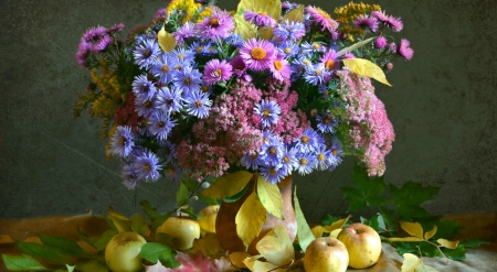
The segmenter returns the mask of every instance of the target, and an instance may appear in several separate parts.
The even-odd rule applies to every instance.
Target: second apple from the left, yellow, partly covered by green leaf
[[[168,235],[173,249],[187,250],[193,247],[194,239],[200,238],[200,226],[190,217],[171,216],[157,228],[156,232]]]

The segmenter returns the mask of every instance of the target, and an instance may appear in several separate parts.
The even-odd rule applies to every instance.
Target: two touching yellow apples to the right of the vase
[[[381,238],[363,224],[351,224],[337,236],[316,238],[304,255],[306,272],[345,272],[347,266],[366,269],[374,265],[381,254]]]

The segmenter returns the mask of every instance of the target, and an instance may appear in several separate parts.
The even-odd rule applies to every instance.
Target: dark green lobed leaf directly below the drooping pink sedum
[[[370,178],[366,170],[356,165],[352,174],[353,187],[340,188],[345,199],[350,202],[348,211],[360,211],[387,204],[383,177]]]

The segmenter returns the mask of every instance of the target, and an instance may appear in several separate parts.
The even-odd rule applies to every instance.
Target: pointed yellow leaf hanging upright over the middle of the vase
[[[242,239],[245,248],[261,232],[261,228],[266,221],[266,208],[264,208],[255,192],[240,207],[235,217],[236,233]]]

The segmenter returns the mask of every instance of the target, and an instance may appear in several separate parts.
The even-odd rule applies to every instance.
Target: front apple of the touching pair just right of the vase
[[[304,254],[306,272],[345,272],[348,264],[346,246],[331,237],[316,238]]]

